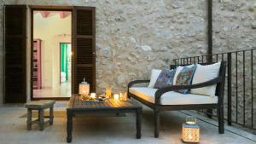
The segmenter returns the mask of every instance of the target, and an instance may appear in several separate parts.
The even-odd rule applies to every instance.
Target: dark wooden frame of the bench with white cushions
[[[211,63],[204,63],[202,65],[209,65]],[[182,65],[185,66],[185,65]],[[171,68],[174,66],[172,65]],[[177,110],[201,110],[207,109],[207,112],[212,113],[212,109],[218,109],[218,133],[224,134],[224,84],[225,84],[225,71],[226,71],[226,62],[222,61],[219,69],[218,78],[214,78],[207,82],[201,84],[192,84],[192,85],[174,85],[171,87],[166,87],[162,89],[157,89],[154,94],[154,103],[149,101],[145,101],[144,99],[138,97],[137,95],[131,94],[129,89],[134,84],[142,84],[149,83],[150,80],[135,80],[131,81],[128,84],[128,97],[134,98],[137,101],[142,102],[147,107],[150,107],[154,110],[154,137],[159,137],[160,133],[160,112],[161,111],[177,111]],[[195,89],[195,88],[203,88],[206,86],[210,86],[213,84],[217,84],[215,94],[218,96],[218,103],[212,104],[193,104],[193,105],[160,105],[160,97],[168,91],[176,91],[179,89]],[[211,118],[211,114],[208,115]]]

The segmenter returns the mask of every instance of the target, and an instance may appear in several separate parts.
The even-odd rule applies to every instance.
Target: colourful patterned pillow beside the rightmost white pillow
[[[196,66],[184,66],[183,69],[177,74],[175,85],[190,85],[195,72]],[[177,90],[177,92],[187,94],[189,89]]]

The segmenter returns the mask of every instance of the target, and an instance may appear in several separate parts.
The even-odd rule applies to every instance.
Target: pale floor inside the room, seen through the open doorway
[[[59,87],[33,89],[33,97],[70,97],[71,83],[63,83]]]

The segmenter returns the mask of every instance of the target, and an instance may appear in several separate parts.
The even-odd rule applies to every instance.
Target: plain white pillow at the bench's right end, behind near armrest
[[[219,74],[219,68],[220,68],[220,62],[212,64],[212,65],[206,65],[202,66],[197,64],[194,78],[192,80],[192,84],[199,84],[203,82],[207,82],[213,78],[217,78]],[[198,88],[198,89],[191,89],[190,92],[192,94],[198,94],[198,95],[215,95],[216,90],[216,84]]]

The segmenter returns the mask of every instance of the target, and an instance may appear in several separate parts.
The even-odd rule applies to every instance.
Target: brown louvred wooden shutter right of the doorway
[[[73,94],[86,79],[96,91],[95,8],[73,7]]]

